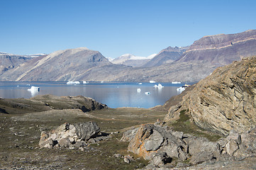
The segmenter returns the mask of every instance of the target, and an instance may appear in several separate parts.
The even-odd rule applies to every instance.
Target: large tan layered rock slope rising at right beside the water
[[[165,120],[179,118],[189,109],[196,125],[228,135],[256,125],[256,57],[219,67],[199,81],[182,101],[169,108]]]

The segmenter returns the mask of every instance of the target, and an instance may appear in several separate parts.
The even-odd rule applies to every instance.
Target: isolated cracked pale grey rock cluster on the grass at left
[[[74,125],[64,123],[49,132],[41,132],[39,147],[67,147],[71,149],[86,147],[90,140],[96,142],[103,139],[99,132],[99,126],[94,122],[76,123]],[[96,137],[98,139],[95,140]],[[104,138],[106,138],[106,135]]]

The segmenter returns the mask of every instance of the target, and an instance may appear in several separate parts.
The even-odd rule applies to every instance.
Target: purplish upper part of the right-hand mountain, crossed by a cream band
[[[256,30],[204,36],[196,40],[177,62],[209,63],[216,66],[256,55]]]

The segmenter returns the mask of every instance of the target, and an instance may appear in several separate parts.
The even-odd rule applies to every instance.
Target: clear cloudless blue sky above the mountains
[[[0,0],[0,52],[88,47],[147,57],[205,35],[256,29],[255,0]]]

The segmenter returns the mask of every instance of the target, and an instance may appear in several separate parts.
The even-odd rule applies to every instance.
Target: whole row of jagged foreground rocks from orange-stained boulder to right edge
[[[150,159],[149,167],[163,166],[174,158],[180,161],[188,159],[190,165],[242,160],[256,156],[255,130],[252,128],[242,133],[232,130],[228,137],[210,142],[205,137],[177,132],[159,123],[146,124],[141,125],[130,140],[128,151]]]

